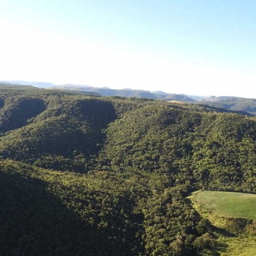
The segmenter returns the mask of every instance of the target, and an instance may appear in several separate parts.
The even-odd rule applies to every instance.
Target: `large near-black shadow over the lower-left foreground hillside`
[[[46,188],[42,180],[0,171],[0,255],[136,256],[141,250],[143,254],[134,229],[123,241],[118,227],[109,234],[90,225]],[[115,233],[117,238],[109,239]]]

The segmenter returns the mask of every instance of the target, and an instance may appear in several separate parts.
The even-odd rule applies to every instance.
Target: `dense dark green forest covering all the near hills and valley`
[[[34,87],[0,99],[0,255],[219,255],[186,197],[256,192],[249,117]]]

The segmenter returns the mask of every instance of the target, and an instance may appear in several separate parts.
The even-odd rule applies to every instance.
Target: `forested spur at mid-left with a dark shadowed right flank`
[[[2,156],[56,170],[84,171],[87,159],[103,143],[102,129],[116,118],[114,107],[79,96],[53,96],[46,105],[31,124],[0,139]]]

